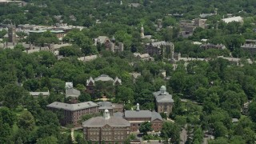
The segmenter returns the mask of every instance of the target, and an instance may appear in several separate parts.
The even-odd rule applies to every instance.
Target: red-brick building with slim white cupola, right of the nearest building
[[[131,131],[138,131],[143,122],[151,122],[154,131],[162,130],[161,115],[155,111],[139,110],[139,104],[136,110],[126,110],[123,117],[130,122]]]

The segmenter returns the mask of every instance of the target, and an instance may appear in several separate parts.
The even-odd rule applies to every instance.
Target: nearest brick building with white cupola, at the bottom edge
[[[103,117],[82,122],[84,138],[93,143],[124,143],[130,135],[130,122],[124,118],[110,117],[105,110]]]

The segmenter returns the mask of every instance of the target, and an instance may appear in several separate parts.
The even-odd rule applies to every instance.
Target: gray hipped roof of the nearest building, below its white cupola
[[[83,127],[102,127],[102,126],[130,126],[130,122],[124,118],[111,117],[105,119],[103,117],[90,118],[86,122],[82,122]]]

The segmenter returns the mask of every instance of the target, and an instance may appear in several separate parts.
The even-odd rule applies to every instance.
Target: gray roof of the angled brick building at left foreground
[[[69,104],[69,103],[63,103],[63,102],[53,102],[47,107],[55,108],[55,109],[63,109],[63,110],[83,110],[90,107],[96,107],[98,106],[94,102],[82,102],[82,103],[76,103],[76,104]]]

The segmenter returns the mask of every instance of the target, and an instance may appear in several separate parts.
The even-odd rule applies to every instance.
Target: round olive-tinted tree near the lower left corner
[[[19,116],[17,126],[24,130],[34,130],[34,117],[29,111],[25,111]]]

